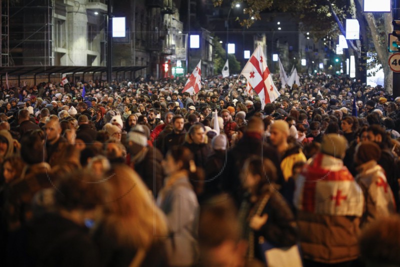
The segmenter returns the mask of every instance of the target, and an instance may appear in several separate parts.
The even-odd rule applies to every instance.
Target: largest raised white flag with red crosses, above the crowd
[[[275,101],[275,99],[280,96],[273,84],[269,69],[266,66],[265,56],[261,50],[261,46],[257,46],[241,71],[241,74],[246,77],[247,82],[259,96],[262,109],[265,104]]]

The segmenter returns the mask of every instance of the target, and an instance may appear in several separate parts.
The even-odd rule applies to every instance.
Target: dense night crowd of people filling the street
[[[275,85],[3,85],[2,265],[399,265],[400,97]]]

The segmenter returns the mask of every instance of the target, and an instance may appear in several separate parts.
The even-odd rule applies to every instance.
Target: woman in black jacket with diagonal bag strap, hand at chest
[[[259,243],[274,247],[296,243],[294,215],[276,187],[276,168],[269,159],[248,158],[243,165],[241,183],[246,191],[240,219],[248,238],[248,257],[263,260]]]

